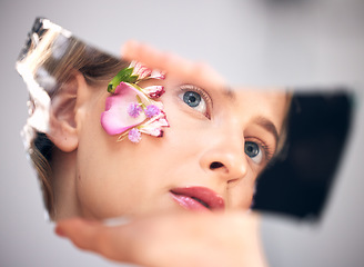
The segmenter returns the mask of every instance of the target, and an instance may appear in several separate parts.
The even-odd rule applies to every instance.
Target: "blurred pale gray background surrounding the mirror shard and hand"
[[[43,220],[36,176],[19,136],[27,91],[14,61],[36,17],[119,55],[128,39],[211,63],[255,86],[353,86],[363,100],[364,1],[19,1],[1,0],[0,266],[114,266],[77,250]],[[265,215],[272,266],[364,266],[364,109],[321,224]]]

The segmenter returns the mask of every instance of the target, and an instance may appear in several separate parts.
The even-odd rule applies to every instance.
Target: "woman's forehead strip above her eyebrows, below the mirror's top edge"
[[[176,77],[168,76],[165,80],[153,82],[172,88],[182,83],[193,83],[212,98],[214,112],[226,115],[232,120],[243,123],[270,121],[277,134],[281,132],[289,107],[289,93],[284,88],[228,87],[222,83],[206,83],[205,80],[200,83],[194,81],[182,81]],[[142,86],[150,85],[152,85],[151,81],[142,83]]]

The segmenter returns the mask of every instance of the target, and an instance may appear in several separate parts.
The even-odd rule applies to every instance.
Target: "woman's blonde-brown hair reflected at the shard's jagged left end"
[[[41,21],[42,23],[43,21]],[[59,28],[41,29],[41,32],[32,32],[31,38],[37,39],[28,43],[27,50],[18,60],[18,71],[28,83],[30,91],[30,117],[37,110],[37,101],[31,93],[31,85],[26,79],[24,69],[37,82],[42,91],[49,96],[49,101],[54,97],[62,85],[68,82],[72,72],[83,75],[89,86],[98,86],[110,81],[129,62],[117,59],[108,53],[87,46],[72,36],[64,34]],[[48,110],[47,110],[48,112]],[[47,120],[47,115],[43,120]],[[26,125],[30,138],[26,139],[26,148],[41,184],[44,206],[50,217],[54,212],[52,188],[52,149],[54,145],[47,137],[46,130],[40,127]]]

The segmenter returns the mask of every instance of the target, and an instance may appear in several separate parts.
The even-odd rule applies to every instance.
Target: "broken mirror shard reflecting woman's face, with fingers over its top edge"
[[[327,101],[310,100],[315,97],[232,88],[208,66],[146,46],[133,49],[120,60],[49,20],[34,23],[17,69],[30,93],[24,144],[51,219],[270,209],[269,190],[260,189],[264,180],[266,188],[276,176],[291,179],[290,167],[304,177],[322,177],[321,167],[333,176],[350,121],[345,93],[330,97],[330,105],[345,102],[340,115],[333,112],[337,105],[326,112]],[[296,123],[303,110],[311,115]],[[340,138],[322,122],[327,118],[344,123]],[[318,137],[320,129],[335,140]],[[301,142],[294,141],[297,132]],[[335,157],[322,161],[327,155]],[[307,167],[312,162],[324,164]],[[280,175],[275,166],[283,168]],[[271,208],[280,209],[290,212]]]

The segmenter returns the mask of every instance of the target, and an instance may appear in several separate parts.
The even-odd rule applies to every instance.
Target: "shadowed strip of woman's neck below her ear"
[[[53,220],[80,216],[75,194],[77,151],[63,152],[59,149],[52,154],[52,188],[54,195]]]

